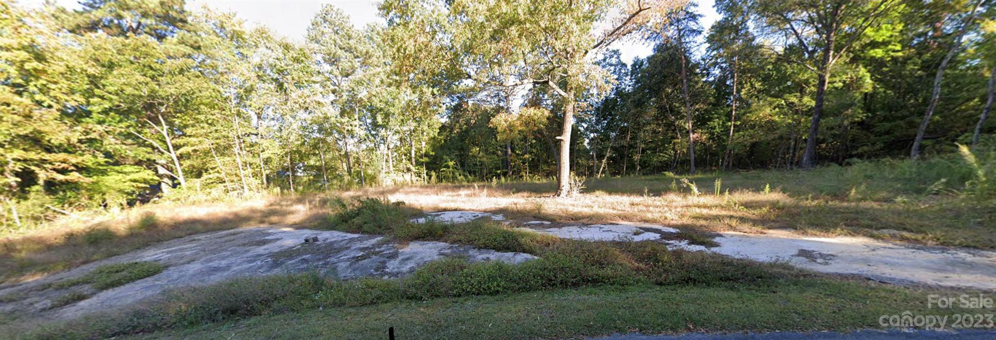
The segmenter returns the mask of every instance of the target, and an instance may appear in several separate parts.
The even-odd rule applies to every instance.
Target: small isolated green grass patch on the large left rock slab
[[[162,272],[165,265],[153,261],[105,264],[83,276],[53,284],[54,288],[68,288],[90,284],[94,289],[105,290],[134,282]]]

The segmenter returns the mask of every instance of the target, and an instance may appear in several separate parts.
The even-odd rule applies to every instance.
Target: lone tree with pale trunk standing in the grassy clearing
[[[485,37],[500,36],[493,33],[498,31],[521,33],[510,44],[518,48],[501,51],[506,59],[519,58],[518,65],[524,66],[514,84],[545,85],[561,103],[563,123],[556,137],[560,143],[557,196],[573,193],[571,135],[578,99],[592,89],[600,93],[607,90],[608,77],[592,57],[643,27],[662,26],[667,14],[682,6],[684,1],[668,0],[509,0],[468,6],[474,10],[467,12],[469,17],[496,23],[483,34]],[[609,23],[608,28],[597,30],[603,20]],[[507,42],[499,39],[497,43]]]

